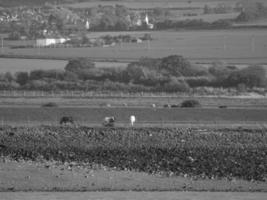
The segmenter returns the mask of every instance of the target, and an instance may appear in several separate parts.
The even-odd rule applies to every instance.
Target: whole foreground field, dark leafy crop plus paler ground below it
[[[266,136],[262,128],[2,127],[0,190],[264,192]]]

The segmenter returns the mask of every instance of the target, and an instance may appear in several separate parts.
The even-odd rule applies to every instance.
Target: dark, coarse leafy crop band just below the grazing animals
[[[267,178],[267,133],[260,129],[4,127],[0,155],[196,178]]]

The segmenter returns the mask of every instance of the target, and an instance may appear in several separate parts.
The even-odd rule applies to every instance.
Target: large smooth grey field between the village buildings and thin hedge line
[[[96,35],[128,34],[102,32]],[[144,34],[149,32],[131,32]],[[183,55],[193,62],[223,60],[229,63],[267,63],[267,32],[265,30],[153,31],[153,40],[141,44],[124,43],[114,47],[5,49],[5,55],[58,57],[89,57],[107,60],[136,60],[141,57],[160,58]]]

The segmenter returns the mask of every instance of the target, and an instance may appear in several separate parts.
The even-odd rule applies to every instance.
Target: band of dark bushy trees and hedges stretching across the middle
[[[194,88],[267,88],[266,69],[238,69],[215,62],[196,66],[180,55],[141,58],[126,68],[97,68],[87,58],[68,61],[64,70],[2,73],[0,90],[82,90],[122,92],[190,92]]]

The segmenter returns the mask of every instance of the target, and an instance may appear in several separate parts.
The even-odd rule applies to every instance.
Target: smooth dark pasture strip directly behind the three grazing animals
[[[175,127],[184,124],[265,125],[267,109],[217,108],[89,108],[89,107],[1,107],[1,125],[57,125],[62,116],[72,116],[79,125],[102,126],[106,116],[114,116],[117,126],[129,126],[129,117],[135,115],[136,126]]]

